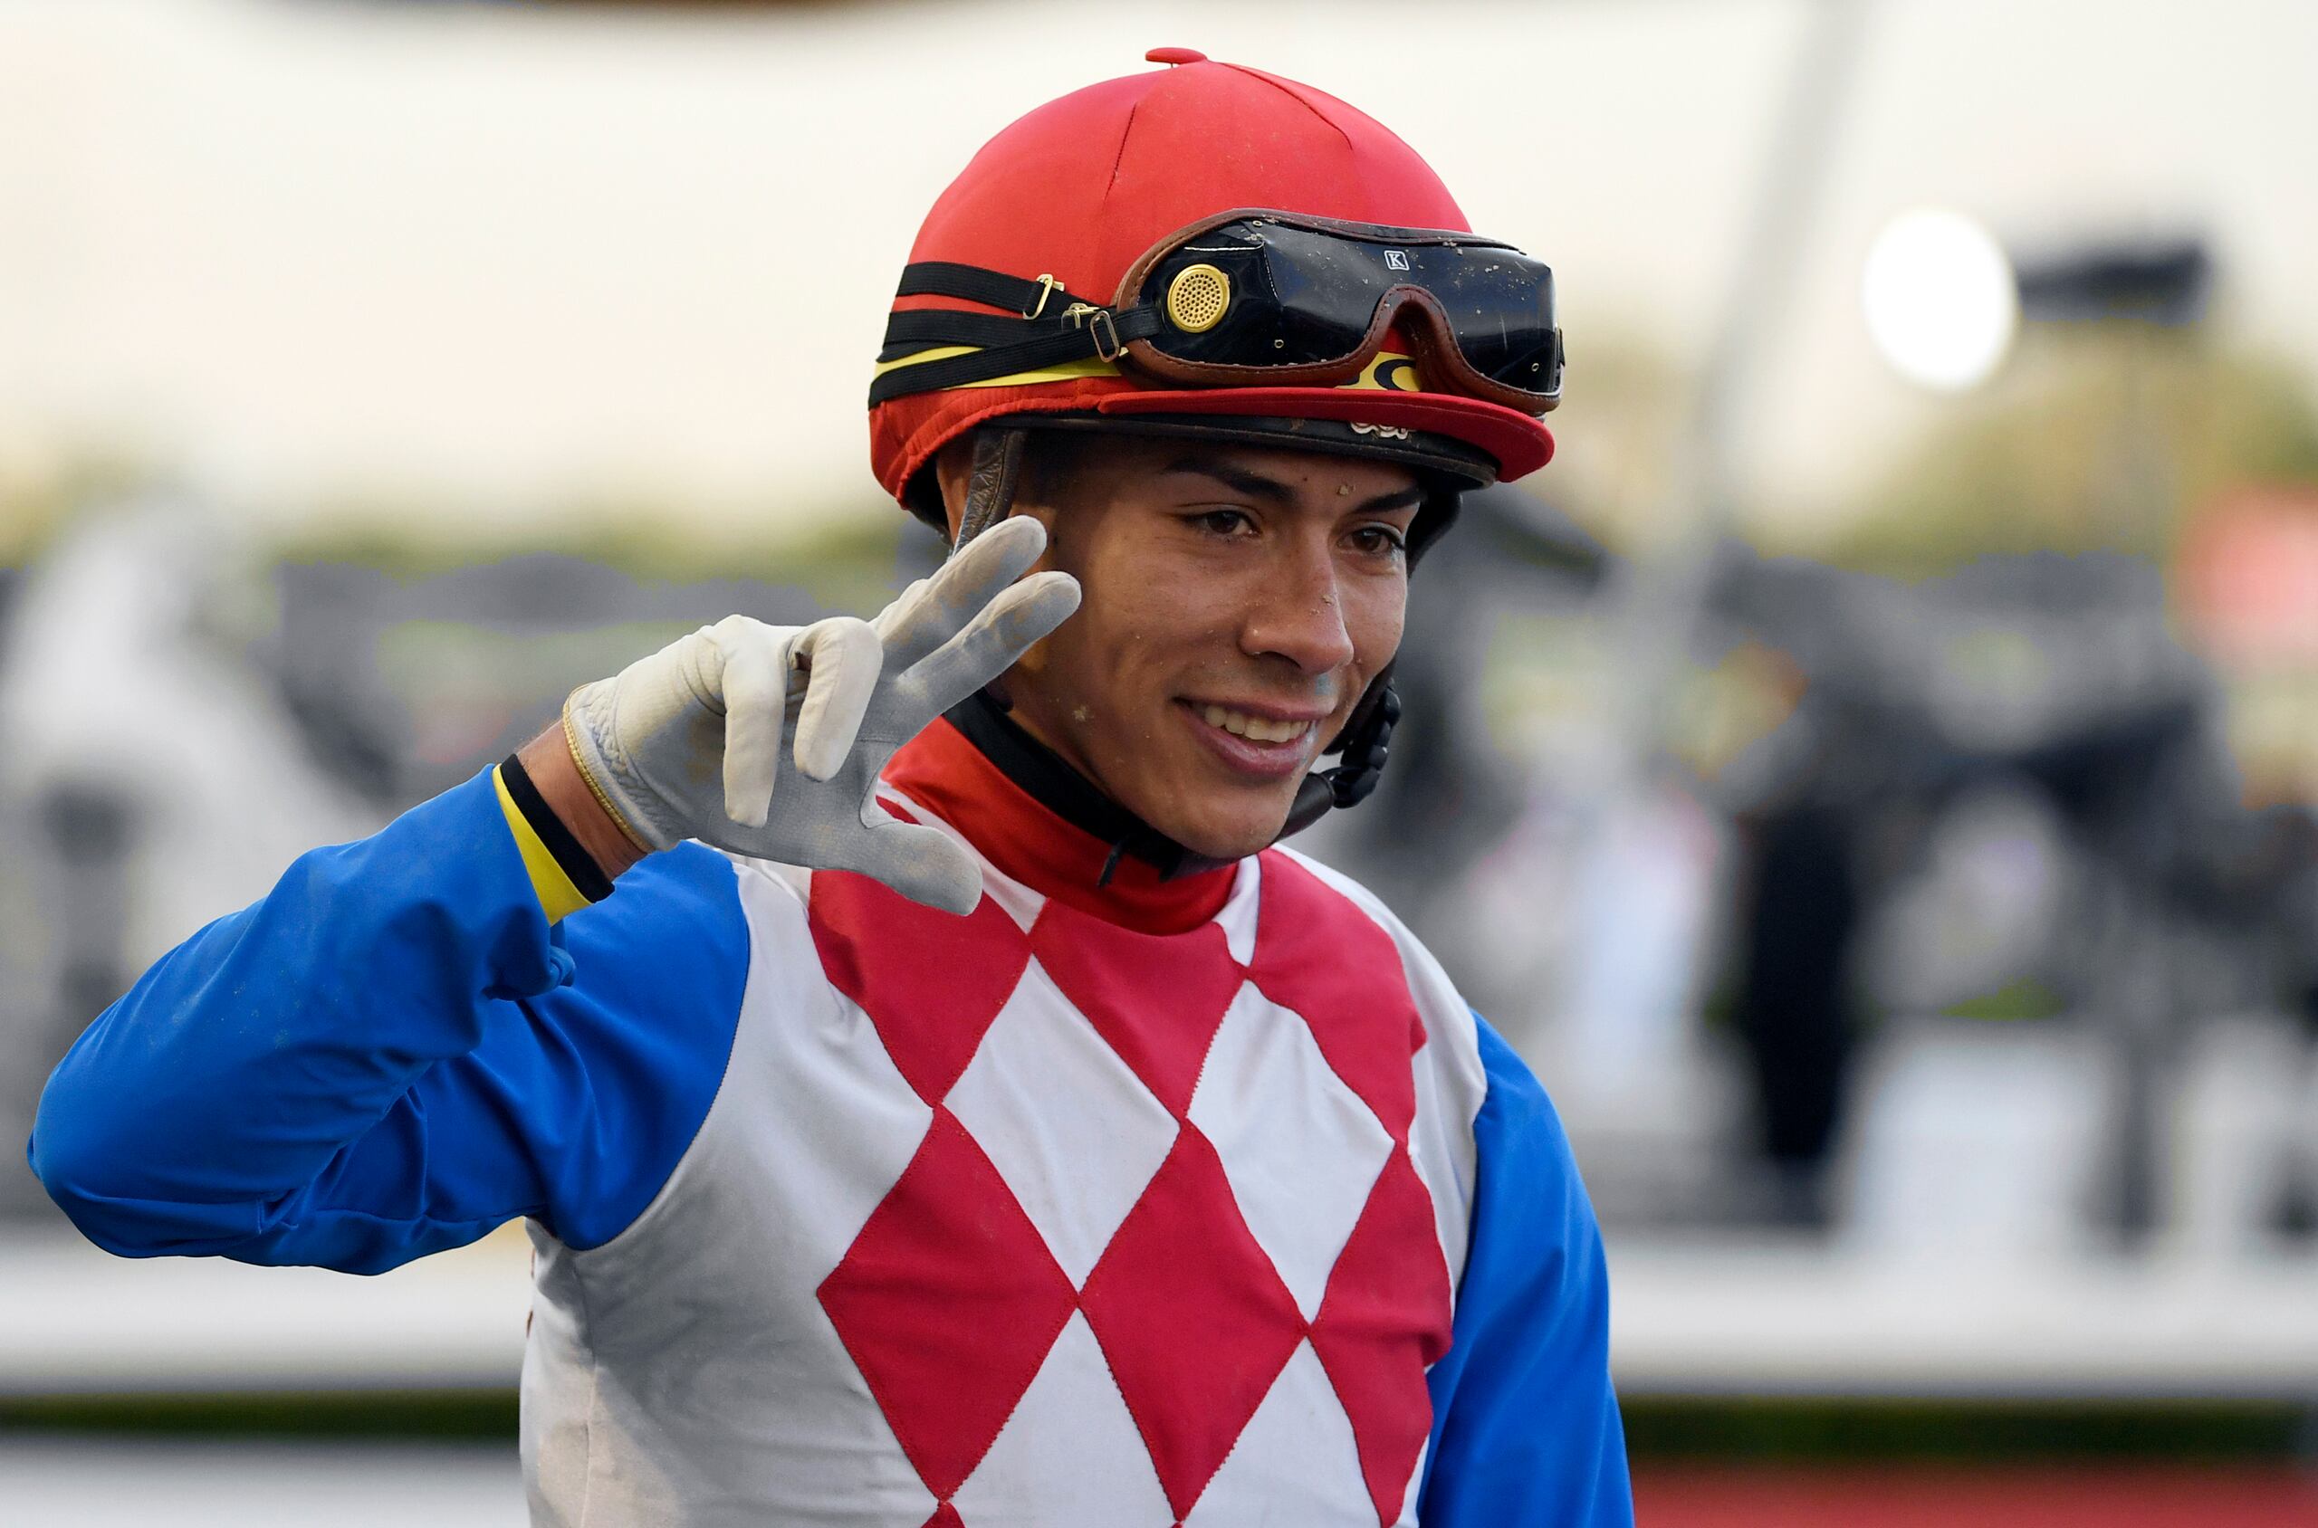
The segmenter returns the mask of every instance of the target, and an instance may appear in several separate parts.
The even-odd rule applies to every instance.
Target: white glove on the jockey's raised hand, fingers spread
[[[858,869],[969,914],[981,867],[874,802],[879,770],[925,723],[1006,672],[1078,610],[1069,573],[1022,570],[1036,519],[1004,519],[876,621],[765,626],[732,614],[563,703],[573,758],[649,849],[695,837],[814,869]],[[795,740],[795,742],[790,742]],[[774,784],[781,754],[797,772]]]

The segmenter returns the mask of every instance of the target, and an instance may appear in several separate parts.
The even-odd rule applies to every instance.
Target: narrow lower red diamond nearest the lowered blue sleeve
[[[1395,1150],[1377,1176],[1328,1294],[1312,1349],[1335,1384],[1377,1521],[1400,1516],[1416,1456],[1433,1431],[1426,1368],[1449,1352],[1449,1266],[1433,1227],[1433,1194]]]

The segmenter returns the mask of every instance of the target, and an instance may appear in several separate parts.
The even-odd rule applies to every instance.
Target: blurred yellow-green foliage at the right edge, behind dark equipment
[[[2318,406],[2288,364],[2188,329],[2040,325],[1817,554],[1896,577],[1991,552],[2165,561],[2200,505],[2246,482],[2318,485]]]

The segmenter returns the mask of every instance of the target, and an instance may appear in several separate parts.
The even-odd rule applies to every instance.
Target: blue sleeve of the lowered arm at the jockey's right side
[[[1430,1375],[1416,1516],[1426,1528],[1630,1528],[1602,1231],[1553,1104],[1486,1023],[1481,1067],[1472,1238],[1451,1347]]]

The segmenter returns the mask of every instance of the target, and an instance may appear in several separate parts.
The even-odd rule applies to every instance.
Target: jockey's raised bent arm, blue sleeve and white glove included
[[[517,761],[299,858],[74,1043],[32,1171],[134,1257],[378,1271],[515,1215],[614,1236],[705,1115],[746,978],[732,867],[691,839],[971,911],[971,856],[872,795],[1078,605],[1022,580],[1043,545],[1001,524],[876,621],[695,631]]]

